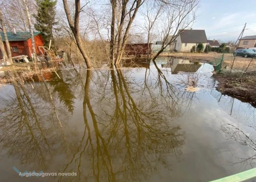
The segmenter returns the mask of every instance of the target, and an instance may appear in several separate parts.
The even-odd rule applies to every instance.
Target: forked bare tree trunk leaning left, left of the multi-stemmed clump
[[[76,43],[77,43],[77,47],[80,50],[80,53],[83,55],[83,58],[85,59],[85,63],[87,68],[91,68],[92,64],[90,61],[89,56],[87,55],[85,48],[83,46],[83,42],[80,38],[80,34],[79,34],[79,15],[80,12],[82,11],[83,7],[85,7],[86,5],[84,5],[82,8],[80,7],[80,0],[75,0],[75,16],[74,16],[74,20],[72,20],[71,18],[71,14],[69,11],[69,7],[67,4],[67,0],[63,0],[63,5],[64,5],[64,9],[66,12],[66,16],[67,16],[67,21],[69,24],[70,29],[72,30]]]

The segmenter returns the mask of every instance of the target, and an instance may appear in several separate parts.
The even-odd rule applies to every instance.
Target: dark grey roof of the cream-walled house
[[[205,30],[180,30],[184,31],[180,34],[182,43],[206,43],[207,37]]]

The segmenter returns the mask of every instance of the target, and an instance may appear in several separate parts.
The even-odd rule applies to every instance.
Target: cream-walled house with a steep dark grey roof
[[[190,49],[199,43],[203,43],[204,48],[207,44],[205,30],[179,30],[182,33],[176,38],[173,43],[173,49],[181,52],[190,52]]]

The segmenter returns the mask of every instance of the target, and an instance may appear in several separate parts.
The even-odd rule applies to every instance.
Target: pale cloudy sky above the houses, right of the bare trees
[[[236,40],[247,23],[246,35],[256,35],[256,0],[202,0],[193,29],[203,29],[208,39]]]

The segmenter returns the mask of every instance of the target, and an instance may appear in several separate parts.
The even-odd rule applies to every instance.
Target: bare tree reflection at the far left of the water
[[[13,79],[15,96],[8,95],[2,100],[1,148],[22,164],[46,169],[56,151],[54,144],[62,142],[56,119],[51,113],[51,103],[39,97],[34,90],[28,90],[19,79],[18,83]],[[37,85],[41,91],[44,90],[42,86]]]

